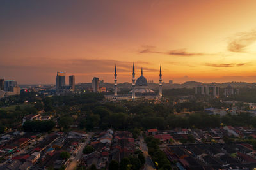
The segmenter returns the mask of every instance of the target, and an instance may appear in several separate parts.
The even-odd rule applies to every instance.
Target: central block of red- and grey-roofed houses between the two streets
[[[87,167],[95,164],[97,169],[107,167],[111,160],[120,162],[124,157],[133,155],[135,148],[131,132],[113,132],[112,129],[93,136],[90,145],[93,146],[94,151],[85,154],[81,164]]]

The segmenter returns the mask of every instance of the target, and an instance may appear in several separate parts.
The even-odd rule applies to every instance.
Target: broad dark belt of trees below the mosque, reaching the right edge
[[[116,107],[120,109],[116,110]],[[88,130],[92,130],[95,127],[100,129],[108,127],[115,129],[214,128],[221,125],[256,127],[256,118],[250,115],[250,113],[241,113],[239,115],[227,114],[223,117],[220,117],[220,115],[209,115],[204,112],[175,115],[172,112],[172,106],[152,103],[137,105],[134,103],[108,103],[108,106],[98,104],[94,108],[87,106],[86,108],[86,117],[78,118],[78,120],[79,127]],[[120,112],[121,110],[124,112]]]

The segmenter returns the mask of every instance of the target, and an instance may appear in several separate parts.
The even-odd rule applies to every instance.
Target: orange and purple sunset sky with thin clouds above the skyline
[[[0,78],[256,82],[255,0],[0,1]],[[68,83],[68,78],[66,78]]]

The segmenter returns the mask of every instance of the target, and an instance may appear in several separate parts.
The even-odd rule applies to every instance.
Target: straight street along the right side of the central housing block
[[[147,145],[143,142],[143,137],[140,136],[140,148],[143,152],[143,155],[145,157],[145,165],[144,165],[144,170],[153,170],[156,169],[151,158],[150,155],[148,154],[148,148]]]

